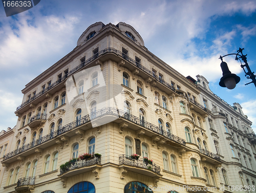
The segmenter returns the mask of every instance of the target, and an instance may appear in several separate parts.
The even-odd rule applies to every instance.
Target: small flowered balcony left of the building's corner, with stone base
[[[65,168],[65,170],[60,168],[60,175],[62,177],[75,176],[91,171],[94,167],[99,167],[97,164],[101,164],[101,157],[94,157],[89,160],[77,160],[71,163],[67,168]],[[77,168],[79,168],[79,170],[76,170]]]

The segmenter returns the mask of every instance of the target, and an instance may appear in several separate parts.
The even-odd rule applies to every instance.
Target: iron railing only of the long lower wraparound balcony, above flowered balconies
[[[144,127],[148,130],[151,130],[155,133],[158,133],[158,134],[161,134],[167,138],[169,138],[170,140],[173,140],[177,143],[180,143],[182,145],[185,145],[185,140],[176,136],[176,135],[173,135],[171,133],[168,133],[166,131],[163,131],[162,129],[160,129],[159,127],[151,124],[151,123],[148,123],[146,121],[143,121],[141,120],[139,117],[137,116],[134,116],[130,113],[127,113],[125,111],[122,111],[122,110],[119,110],[115,107],[106,107],[106,108],[103,108],[103,109],[100,109],[96,112],[93,112],[91,114],[88,114],[86,116],[83,116],[81,117],[80,119],[78,120],[75,120],[74,122],[71,122],[70,124],[66,125],[66,126],[63,126],[61,127],[60,129],[58,129],[57,131],[54,131],[44,137],[41,137],[35,141],[32,141],[31,143],[28,143],[26,144],[25,146],[21,147],[21,148],[18,148],[6,155],[4,155],[3,157],[3,160],[7,160],[13,156],[16,156],[22,152],[25,152],[31,148],[34,148],[36,146],[38,146],[39,144],[41,143],[44,143],[46,141],[49,141],[51,140],[52,138],[55,138],[57,137],[58,135],[62,134],[62,133],[65,133],[67,131],[70,131],[82,124],[86,124],[86,123],[89,123],[91,121],[91,119],[94,119],[94,118],[98,118],[98,117],[101,117],[101,116],[104,116],[104,115],[115,115],[119,118],[125,118],[127,120],[130,120],[131,122],[133,122],[134,124],[137,124],[137,125],[140,125],[141,127]]]

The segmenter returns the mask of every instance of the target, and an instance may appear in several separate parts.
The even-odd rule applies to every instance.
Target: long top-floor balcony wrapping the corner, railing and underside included
[[[108,54],[115,54],[118,57],[110,57],[107,56]],[[22,103],[21,105],[19,105],[16,108],[15,113],[18,114],[22,114],[25,110],[28,110],[30,108],[31,103],[35,103],[38,104],[39,102],[41,102],[42,99],[41,96],[45,96],[46,93],[49,93],[50,95],[54,93],[54,91],[52,91],[53,88],[62,88],[64,87],[64,82],[65,80],[72,76],[73,74],[77,73],[78,71],[80,71],[84,66],[87,66],[89,63],[93,62],[94,60],[100,58],[101,56],[104,55],[103,59],[113,59],[116,60],[117,62],[120,62],[120,59],[124,59],[126,62],[131,63],[131,70],[134,71],[136,70],[136,74],[138,73],[139,76],[141,76],[144,79],[148,78],[148,82],[154,82],[153,80],[156,80],[156,86],[158,86],[160,89],[165,90],[165,92],[167,94],[169,93],[176,93],[175,88],[167,83],[166,81],[164,81],[163,79],[157,77],[155,74],[153,74],[153,72],[150,69],[145,68],[143,65],[141,65],[140,63],[136,62],[135,60],[133,60],[132,58],[130,58],[129,56],[126,56],[125,54],[123,54],[121,51],[116,50],[112,47],[106,48],[100,52],[98,52],[97,54],[95,54],[94,56],[92,56],[91,58],[89,58],[88,60],[84,61],[83,63],[81,63],[80,65],[76,66],[75,68],[73,68],[71,71],[69,71],[69,73],[63,77],[61,77],[60,79],[58,79],[56,82],[52,83],[51,85],[49,85],[47,88],[45,88],[44,90],[41,90],[40,92],[38,92],[37,94],[35,94],[34,96],[32,96],[29,100],[25,101],[24,103]],[[155,58],[156,59],[156,58]],[[159,61],[161,62],[161,61]],[[127,67],[127,66],[126,66]],[[140,70],[138,70],[140,69]],[[150,77],[148,77],[150,76]],[[33,82],[32,82],[33,83]],[[32,84],[30,83],[30,84]],[[45,96],[46,97],[46,96]],[[26,107],[25,109],[23,109],[24,107]],[[23,109],[23,110],[22,110]]]

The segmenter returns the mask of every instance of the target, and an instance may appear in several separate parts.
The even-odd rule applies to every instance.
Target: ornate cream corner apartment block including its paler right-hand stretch
[[[0,192],[233,192],[256,180],[242,107],[126,23],[94,23],[22,92],[17,125],[0,134]]]

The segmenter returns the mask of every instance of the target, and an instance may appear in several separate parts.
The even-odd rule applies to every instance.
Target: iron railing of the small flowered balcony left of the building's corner
[[[62,170],[60,168],[60,175],[62,175],[63,173],[69,171],[69,170],[74,170],[76,168],[79,168],[79,167],[83,167],[83,166],[89,166],[89,165],[94,165],[94,164],[100,164],[101,163],[101,158],[100,157],[94,157],[92,159],[88,159],[88,160],[77,160],[73,163],[71,163],[65,170]]]

